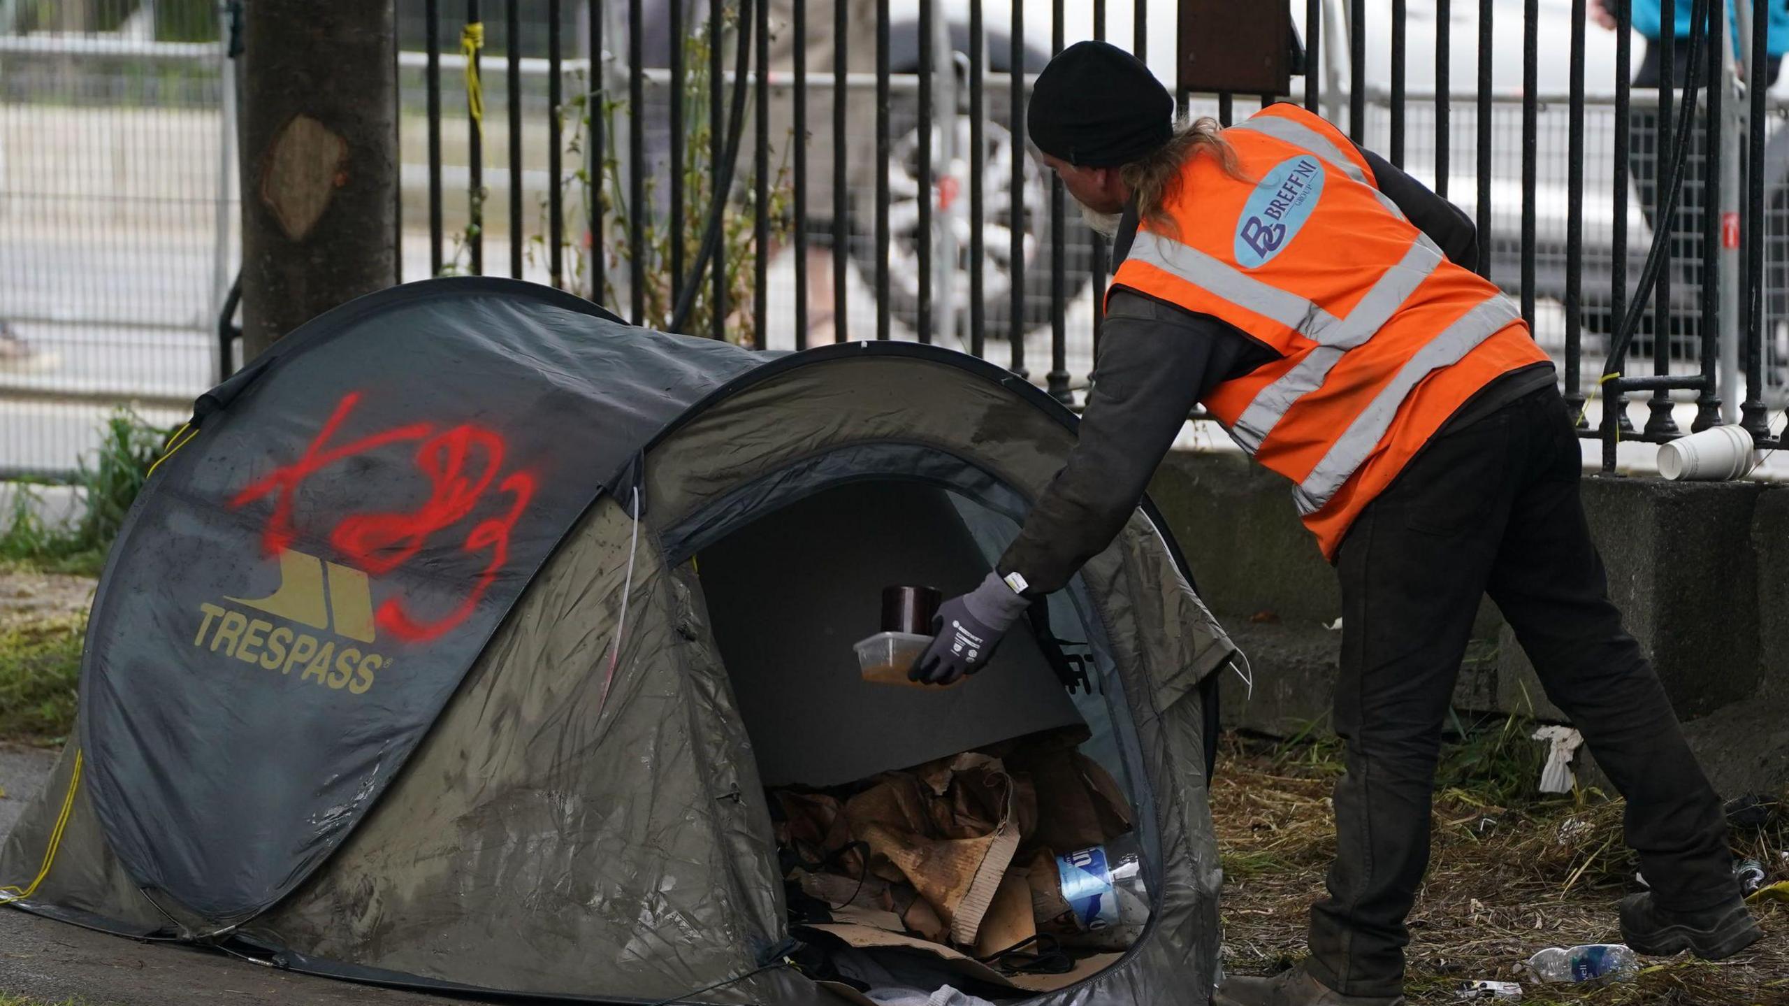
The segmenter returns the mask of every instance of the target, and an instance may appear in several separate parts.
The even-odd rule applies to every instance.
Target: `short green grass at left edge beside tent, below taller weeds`
[[[0,737],[39,745],[68,737],[86,630],[84,614],[0,630]]]

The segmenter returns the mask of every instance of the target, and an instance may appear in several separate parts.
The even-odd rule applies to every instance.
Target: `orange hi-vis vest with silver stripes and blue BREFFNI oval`
[[[1204,401],[1249,455],[1297,483],[1304,524],[1335,558],[1349,524],[1472,394],[1547,362],[1490,281],[1379,192],[1360,150],[1290,104],[1224,131],[1183,168],[1175,227],[1138,229],[1113,276],[1213,315],[1279,353]]]

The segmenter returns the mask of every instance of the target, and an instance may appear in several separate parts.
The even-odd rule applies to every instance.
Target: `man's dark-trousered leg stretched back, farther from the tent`
[[[1578,498],[1580,451],[1564,399],[1524,401],[1512,426],[1537,465],[1515,499],[1490,596],[1547,696],[1583,732],[1628,798],[1626,838],[1657,904],[1694,911],[1739,893],[1721,802],[1703,777],[1658,677],[1608,600]]]

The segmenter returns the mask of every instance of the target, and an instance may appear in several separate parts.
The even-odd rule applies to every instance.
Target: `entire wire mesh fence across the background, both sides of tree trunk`
[[[174,417],[216,376],[238,247],[231,70],[208,4],[30,7],[0,23],[0,469],[66,473],[113,405]],[[1106,249],[1014,107],[1050,54],[1082,38],[1131,45],[1174,79],[1175,4],[750,9],[737,63],[739,0],[399,0],[404,279],[519,274],[658,328],[689,301],[687,331],[773,349],[923,338],[1073,399],[1093,367]],[[1392,25],[1394,11],[1406,23]],[[1621,63],[1615,34],[1551,0],[1311,0],[1293,13],[1306,75],[1283,97],[1310,90],[1317,111],[1478,220],[1488,276],[1522,301],[1567,392],[1594,399],[1669,152],[1660,91],[1619,86],[1646,41]],[[1437,100],[1437,86],[1451,97]],[[1259,104],[1183,95],[1190,115],[1225,120]],[[1759,379],[1723,378],[1728,408],[1776,406],[1789,385],[1785,107],[1771,98],[1757,116],[1762,211],[1741,238],[1760,249],[1748,286],[1760,310],[1741,347],[1757,349]],[[1621,362],[1685,385],[1712,369],[1719,301],[1703,277],[1732,277],[1739,261],[1707,254],[1726,251],[1728,218],[1705,206],[1701,120],[1689,147],[1669,267]],[[1750,192],[1748,154],[1728,161],[1746,163]],[[710,270],[692,292],[717,188],[719,281]],[[1680,387],[1660,401],[1698,394],[1710,397]]]

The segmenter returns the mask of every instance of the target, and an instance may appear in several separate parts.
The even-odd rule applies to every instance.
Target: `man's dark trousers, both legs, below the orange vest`
[[[1546,388],[1444,430],[1342,542],[1335,729],[1347,773],[1329,897],[1310,931],[1310,970],[1336,992],[1403,990],[1442,723],[1487,593],[1628,798],[1626,840],[1658,902],[1694,909],[1739,893],[1721,802],[1608,601],[1580,471],[1565,401]]]

